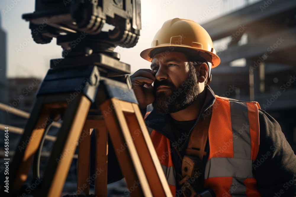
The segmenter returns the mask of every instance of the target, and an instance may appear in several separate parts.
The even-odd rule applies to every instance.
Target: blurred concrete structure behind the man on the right
[[[296,1],[259,1],[202,26],[221,59],[212,70],[215,94],[259,102],[295,152]]]

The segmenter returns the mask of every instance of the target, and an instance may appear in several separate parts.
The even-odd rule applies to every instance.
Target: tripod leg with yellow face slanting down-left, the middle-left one
[[[90,105],[91,101],[84,95],[78,95],[68,105],[46,166],[44,180],[34,196],[61,195]]]

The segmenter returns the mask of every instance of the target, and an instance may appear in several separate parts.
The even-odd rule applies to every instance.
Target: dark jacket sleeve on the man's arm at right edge
[[[296,196],[296,155],[279,123],[259,110],[259,152],[252,171],[261,196]]]

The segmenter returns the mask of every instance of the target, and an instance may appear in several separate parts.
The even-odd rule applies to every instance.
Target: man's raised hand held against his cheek
[[[152,83],[155,81],[155,74],[156,72],[150,69],[140,69],[130,76],[140,109],[145,109],[154,101]]]

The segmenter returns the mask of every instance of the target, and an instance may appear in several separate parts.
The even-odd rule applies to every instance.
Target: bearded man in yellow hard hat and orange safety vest
[[[257,102],[219,97],[208,85],[220,59],[200,25],[168,20],[140,55],[151,70],[131,82],[173,196],[295,196],[296,156],[279,124]],[[200,169],[192,182],[185,158]],[[110,183],[122,175],[108,160]]]

